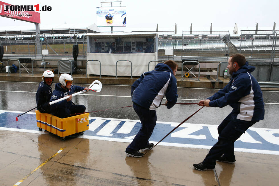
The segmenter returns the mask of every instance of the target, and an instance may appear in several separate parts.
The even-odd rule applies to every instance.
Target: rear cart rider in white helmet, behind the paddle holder
[[[51,85],[54,81],[54,74],[50,70],[44,71],[43,81],[39,84],[36,93],[37,109],[40,113],[51,113],[51,107],[48,105],[52,95]]]

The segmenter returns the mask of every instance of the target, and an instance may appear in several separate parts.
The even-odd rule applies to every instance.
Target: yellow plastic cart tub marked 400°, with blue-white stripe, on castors
[[[66,137],[89,129],[89,113],[59,118],[57,116],[40,113],[36,110],[37,126],[60,137]]]

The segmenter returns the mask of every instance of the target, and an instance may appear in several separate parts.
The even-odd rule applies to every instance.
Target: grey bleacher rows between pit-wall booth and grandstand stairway
[[[174,49],[174,50],[227,50],[223,40],[199,40],[199,39],[184,39],[182,48],[182,39],[161,39],[158,41],[158,49]]]

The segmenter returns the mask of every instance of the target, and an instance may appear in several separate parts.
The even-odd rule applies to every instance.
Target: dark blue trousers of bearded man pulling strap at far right
[[[216,160],[223,154],[228,160],[234,162],[235,155],[233,143],[256,122],[257,121],[244,121],[232,118],[230,113],[218,126],[218,142],[210,149],[202,163],[215,166]]]

